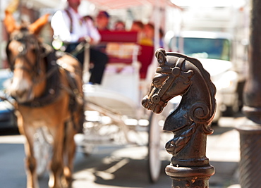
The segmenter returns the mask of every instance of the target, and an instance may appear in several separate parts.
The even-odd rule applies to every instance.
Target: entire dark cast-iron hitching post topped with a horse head
[[[165,146],[172,155],[166,174],[174,188],[207,188],[214,175],[205,153],[207,134],[213,133],[210,123],[216,108],[216,88],[198,59],[164,49],[158,49],[155,56],[159,67],[142,106],[161,113],[170,99],[182,96],[178,108],[164,123],[163,130],[174,133]]]

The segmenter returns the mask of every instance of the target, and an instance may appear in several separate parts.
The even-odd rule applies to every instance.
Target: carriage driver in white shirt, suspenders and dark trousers
[[[54,37],[58,37],[63,42],[68,53],[74,51],[80,42],[97,44],[101,38],[92,21],[83,19],[78,13],[79,5],[80,0],[68,0],[68,8],[57,11],[51,18]],[[84,52],[80,51],[76,58],[83,65]],[[101,51],[90,48],[90,61],[94,63],[90,82],[100,84],[108,57]]]

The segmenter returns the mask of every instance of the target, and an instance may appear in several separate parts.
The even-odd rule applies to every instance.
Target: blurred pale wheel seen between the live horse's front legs
[[[51,145],[44,136],[42,128],[37,129],[35,132],[34,153],[37,161],[36,173],[38,177],[42,177],[47,171],[51,153]]]

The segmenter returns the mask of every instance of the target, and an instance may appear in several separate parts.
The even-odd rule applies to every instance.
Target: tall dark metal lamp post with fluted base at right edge
[[[248,119],[238,128],[242,188],[261,185],[261,1],[252,0],[250,3],[249,72],[243,92],[243,113]]]

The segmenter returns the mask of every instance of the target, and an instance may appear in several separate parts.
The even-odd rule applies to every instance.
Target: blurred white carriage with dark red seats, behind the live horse
[[[86,122],[83,142],[79,145],[87,155],[96,144],[145,145],[150,181],[157,182],[161,169],[160,150],[164,149],[162,126],[171,106],[157,115],[141,105],[153,75],[147,71],[154,72],[154,68],[150,69],[154,47],[139,45],[137,32],[100,34],[100,44],[106,46],[109,63],[101,85],[83,85]]]

